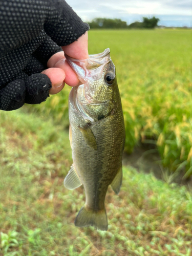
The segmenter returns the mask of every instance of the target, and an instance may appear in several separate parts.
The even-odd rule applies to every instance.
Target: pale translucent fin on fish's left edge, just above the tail
[[[71,169],[69,170],[69,173],[64,180],[64,185],[68,189],[74,189],[82,185],[82,183],[79,180],[79,176],[76,172],[74,164],[71,165]]]

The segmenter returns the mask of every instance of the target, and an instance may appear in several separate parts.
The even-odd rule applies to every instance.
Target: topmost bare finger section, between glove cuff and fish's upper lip
[[[72,58],[87,59],[88,54],[88,32],[80,36],[68,46],[62,46],[62,50]]]

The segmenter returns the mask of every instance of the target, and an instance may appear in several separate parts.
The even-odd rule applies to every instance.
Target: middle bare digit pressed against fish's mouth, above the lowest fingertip
[[[49,59],[47,66],[48,68],[54,67],[62,69],[66,74],[65,83],[67,83],[68,86],[77,86],[77,84],[79,84],[79,79],[66,61],[63,52],[54,54]]]

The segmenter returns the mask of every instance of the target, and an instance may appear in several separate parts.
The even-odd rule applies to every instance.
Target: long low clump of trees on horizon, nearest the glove
[[[94,18],[92,22],[89,23],[90,29],[123,29],[127,28],[126,22],[121,19],[115,18]]]

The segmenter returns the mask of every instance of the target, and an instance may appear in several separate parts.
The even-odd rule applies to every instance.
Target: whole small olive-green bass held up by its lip
[[[78,60],[65,54],[80,84],[69,94],[69,138],[73,164],[64,185],[83,184],[86,203],[75,226],[107,230],[105,195],[111,185],[116,194],[122,183],[125,127],[116,70],[110,49]]]

